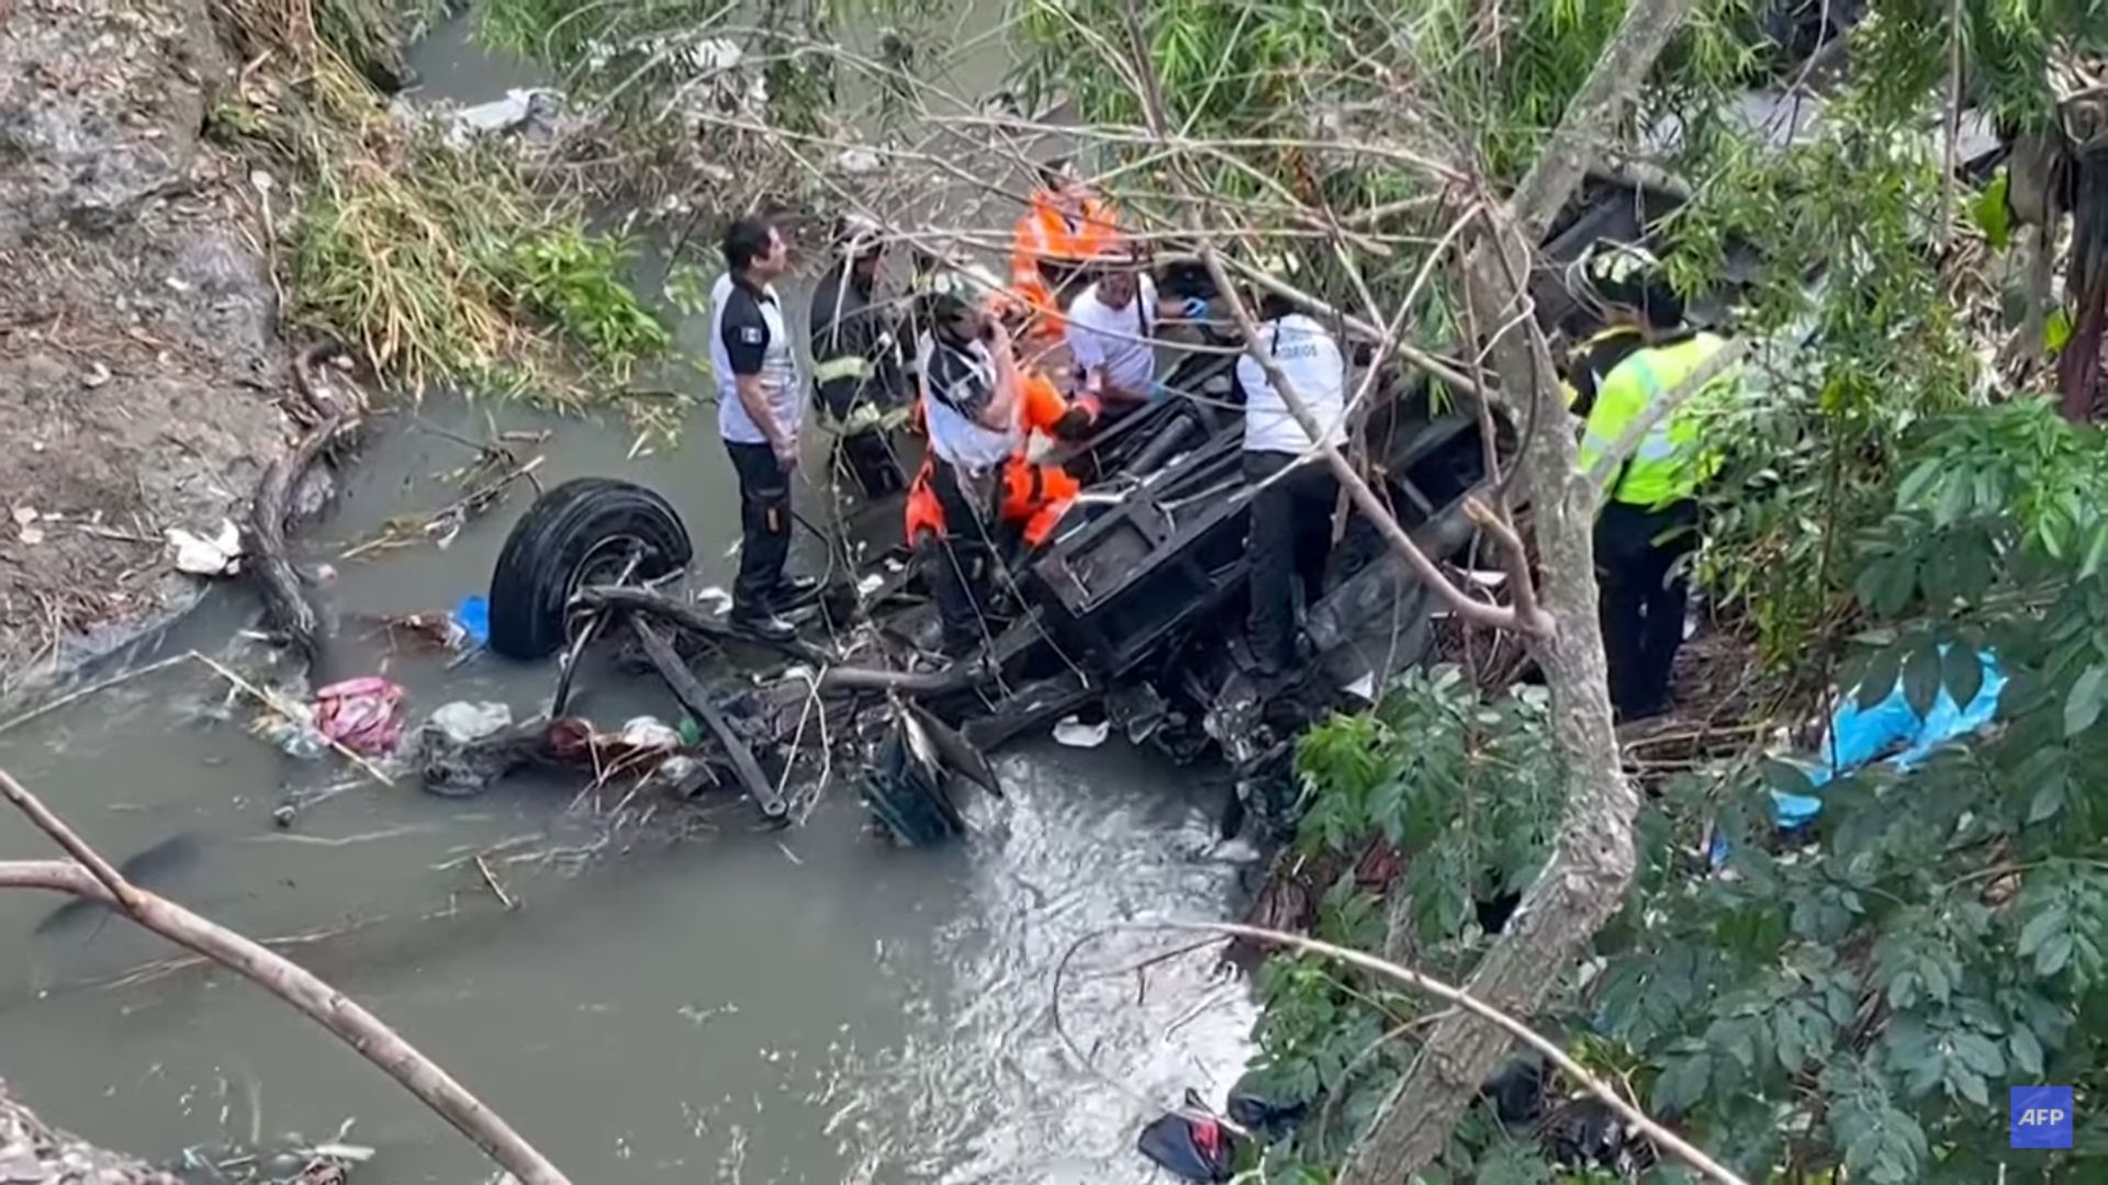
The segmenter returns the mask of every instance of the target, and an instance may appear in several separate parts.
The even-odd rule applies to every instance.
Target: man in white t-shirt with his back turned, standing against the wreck
[[[1296,401],[1318,422],[1322,439],[1347,443],[1347,365],[1339,342],[1315,318],[1267,293],[1258,302],[1258,348],[1265,350]],[[1244,388],[1244,483],[1261,487],[1250,510],[1250,641],[1263,675],[1296,662],[1294,588],[1303,603],[1324,590],[1332,552],[1332,504],[1339,481],[1288,411],[1256,354],[1237,358]]]

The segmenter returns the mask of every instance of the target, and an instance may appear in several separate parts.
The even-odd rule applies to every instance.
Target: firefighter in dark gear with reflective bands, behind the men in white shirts
[[[885,253],[879,226],[843,217],[835,228],[835,261],[812,293],[814,399],[831,420],[835,460],[864,498],[898,493],[906,474],[887,430],[904,420],[906,377],[896,318],[873,302]]]

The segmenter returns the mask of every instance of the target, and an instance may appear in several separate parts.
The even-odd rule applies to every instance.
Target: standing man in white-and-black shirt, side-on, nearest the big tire
[[[784,641],[797,630],[778,611],[818,590],[812,578],[784,578],[790,470],[805,417],[797,352],[774,285],[788,268],[788,251],[774,226],[753,217],[725,230],[723,251],[725,274],[710,287],[710,365],[717,432],[740,474],[740,574],[731,584],[731,620]]]

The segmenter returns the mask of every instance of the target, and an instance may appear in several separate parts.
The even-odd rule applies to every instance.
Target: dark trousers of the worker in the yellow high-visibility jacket
[[[1602,582],[1602,647],[1611,660],[1611,706],[1642,719],[1670,704],[1670,671],[1684,645],[1691,578],[1678,561],[1697,548],[1697,502],[1646,510],[1606,502],[1596,519]]]

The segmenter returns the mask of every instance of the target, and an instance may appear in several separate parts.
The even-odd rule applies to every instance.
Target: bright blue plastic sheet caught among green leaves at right
[[[1946,656],[1946,652],[1948,647],[1941,645],[1939,654]],[[1933,700],[1931,711],[1922,717],[1904,698],[1901,681],[1889,692],[1889,698],[1872,708],[1859,708],[1859,689],[1853,687],[1838,698],[1836,711],[1830,713],[1830,742],[1823,746],[1823,755],[1815,761],[1794,761],[1794,765],[1809,778],[1809,786],[1817,791],[1897,744],[1904,749],[1889,757],[1887,765],[1895,770],[1916,768],[1933,749],[1977,732],[1998,713],[1998,692],[2005,689],[2005,671],[1998,668],[1998,656],[1979,649],[1977,664],[1984,671],[1984,683],[1967,704],[1956,704],[1954,694],[1941,685],[1939,698]],[[1771,791],[1771,818],[1781,829],[1804,827],[1821,810],[1823,799],[1819,795]],[[1714,837],[1712,858],[1716,865],[1726,858],[1726,839]]]

